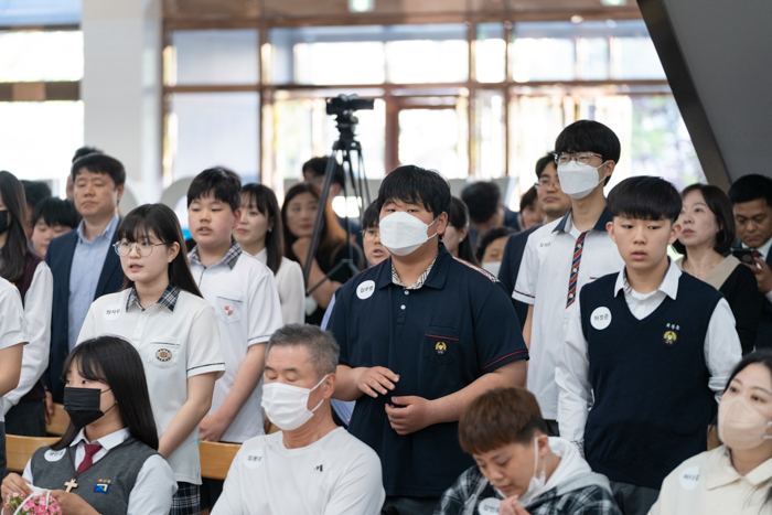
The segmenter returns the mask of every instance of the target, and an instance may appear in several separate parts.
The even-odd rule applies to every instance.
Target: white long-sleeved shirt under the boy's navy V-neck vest
[[[616,276],[614,294],[623,291],[630,312],[637,320],[642,320],[652,314],[667,297],[676,299],[678,278],[682,273],[675,261],[671,259],[671,265],[660,288],[651,293],[641,294],[628,283],[623,267]],[[735,315],[732,315],[729,303],[723,297],[718,301],[710,315],[708,330],[705,333],[704,353],[705,363],[710,372],[708,386],[716,393],[718,401],[735,365],[742,358],[740,337],[735,329]],[[581,330],[581,313],[577,305],[576,311],[571,314],[566,345],[558,360],[555,377],[560,387],[558,399],[560,437],[579,443],[585,438],[587,414],[592,407],[589,375],[590,362],[587,340],[585,340],[585,333]]]

